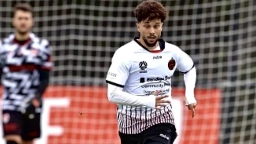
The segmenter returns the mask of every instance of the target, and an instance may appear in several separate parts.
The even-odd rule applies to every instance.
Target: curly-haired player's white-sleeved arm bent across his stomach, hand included
[[[163,100],[168,96],[157,96],[159,92],[149,96],[136,96],[122,90],[130,74],[131,66],[129,57],[125,56],[120,49],[113,55],[106,78],[109,101],[123,105],[145,105],[151,108],[158,108],[170,103],[169,100]]]

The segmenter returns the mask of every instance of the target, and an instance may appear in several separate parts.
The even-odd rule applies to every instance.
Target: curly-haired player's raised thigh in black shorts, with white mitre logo
[[[173,144],[176,137],[177,133],[174,125],[157,124],[146,131],[143,144]]]

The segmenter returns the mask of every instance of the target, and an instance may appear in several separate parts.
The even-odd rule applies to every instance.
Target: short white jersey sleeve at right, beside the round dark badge
[[[194,67],[194,62],[191,57],[179,49],[178,51],[178,65],[177,68],[182,73],[187,73]]]

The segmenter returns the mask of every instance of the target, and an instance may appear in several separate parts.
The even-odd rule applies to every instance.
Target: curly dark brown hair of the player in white
[[[161,22],[163,22],[168,17],[168,11],[156,0],[141,2],[141,4],[136,7],[134,14],[138,22],[146,20],[147,18],[148,20],[161,19]]]

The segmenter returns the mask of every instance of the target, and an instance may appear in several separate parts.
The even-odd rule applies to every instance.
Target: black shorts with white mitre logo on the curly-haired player
[[[156,124],[139,134],[119,132],[121,144],[173,144],[177,137],[173,124]]]

